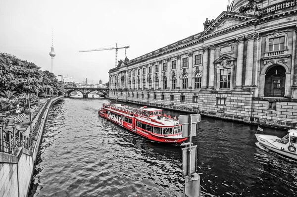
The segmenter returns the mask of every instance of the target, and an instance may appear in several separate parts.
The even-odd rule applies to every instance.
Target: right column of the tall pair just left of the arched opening
[[[251,86],[252,80],[252,65],[253,65],[253,45],[255,34],[249,34],[247,38],[247,61],[246,61],[246,77],[245,77],[245,86]]]

